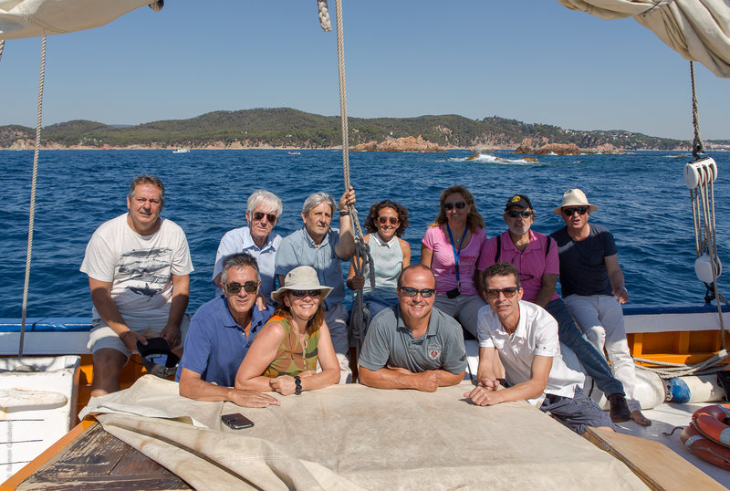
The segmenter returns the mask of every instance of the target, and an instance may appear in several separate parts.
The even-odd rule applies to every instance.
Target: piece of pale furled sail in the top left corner
[[[151,0],[0,0],[0,39],[50,36],[109,24]]]

